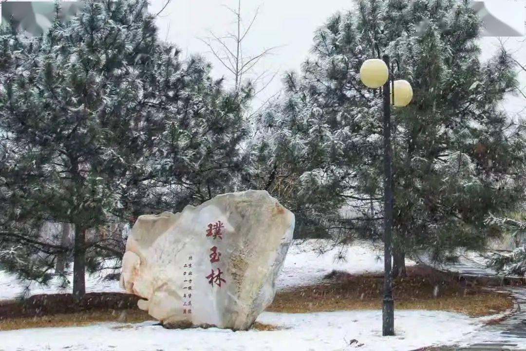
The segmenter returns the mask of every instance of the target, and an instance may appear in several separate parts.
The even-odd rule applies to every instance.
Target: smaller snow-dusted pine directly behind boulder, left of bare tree
[[[171,67],[171,59],[163,56],[161,65]],[[199,205],[224,193],[246,167],[240,145],[248,136],[243,112],[252,88],[225,92],[223,80],[211,78],[210,69],[196,56],[166,82],[163,129],[147,161],[155,175],[150,186],[158,189],[152,209],[180,211],[188,204]]]

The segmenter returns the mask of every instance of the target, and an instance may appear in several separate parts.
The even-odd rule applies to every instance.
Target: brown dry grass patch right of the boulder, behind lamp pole
[[[351,309],[381,309],[383,277],[333,272],[327,283],[280,292],[267,310],[309,313]],[[429,309],[485,316],[512,307],[504,294],[480,287],[466,288],[458,277],[428,267],[410,267],[393,283],[396,309]]]

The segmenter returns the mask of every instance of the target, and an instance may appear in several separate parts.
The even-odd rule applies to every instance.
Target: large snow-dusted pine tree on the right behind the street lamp
[[[287,203],[298,230],[381,238],[381,96],[359,81],[378,43],[414,91],[392,109],[395,274],[406,255],[484,248],[484,219],[522,200],[526,154],[523,126],[500,108],[513,63],[503,51],[479,61],[480,26],[453,0],[360,0],[330,17],[301,74],[285,77],[286,97],[261,115],[248,182]]]

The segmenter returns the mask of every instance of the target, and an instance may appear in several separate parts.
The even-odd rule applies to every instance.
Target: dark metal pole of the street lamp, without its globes
[[[389,67],[389,55],[383,55],[383,62]],[[383,173],[385,177],[383,193],[383,243],[384,243],[384,282],[382,308],[382,334],[395,335],[395,302],[392,294],[391,276],[391,228],[393,225],[393,189],[392,189],[392,146],[391,146],[391,72],[383,86]]]

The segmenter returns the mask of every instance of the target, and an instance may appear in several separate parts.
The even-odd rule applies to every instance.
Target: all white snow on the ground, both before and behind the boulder
[[[382,272],[381,249],[357,243],[337,259],[338,249],[319,255],[319,242],[291,246],[278,278],[278,289],[316,284],[331,270],[352,274]],[[408,262],[408,264],[413,264]],[[88,292],[120,291],[117,282],[87,279]],[[0,299],[21,295],[23,285],[0,272]],[[64,292],[57,287],[32,286],[31,294]],[[359,350],[409,351],[423,346],[455,344],[482,326],[480,319],[437,311],[397,311],[394,337],[381,336],[381,311],[339,311],[311,314],[262,313],[258,322],[274,331],[166,330],[147,322],[136,325],[103,323],[86,327],[36,328],[0,332],[0,351],[29,350]],[[355,341],[356,340],[356,341]],[[362,345],[363,344],[363,345]]]

